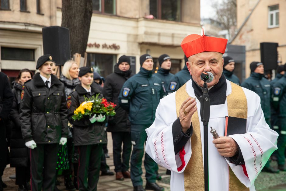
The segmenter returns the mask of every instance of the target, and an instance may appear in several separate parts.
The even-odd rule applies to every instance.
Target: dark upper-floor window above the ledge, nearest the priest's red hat
[[[150,14],[157,19],[180,21],[181,0],[149,0]]]

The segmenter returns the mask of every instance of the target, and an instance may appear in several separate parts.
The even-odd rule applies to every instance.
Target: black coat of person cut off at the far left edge
[[[13,94],[6,74],[0,72],[0,168],[7,165],[6,120],[12,108]],[[9,156],[9,155],[8,155]]]

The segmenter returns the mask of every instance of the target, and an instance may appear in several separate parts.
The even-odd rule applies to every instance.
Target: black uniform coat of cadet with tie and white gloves
[[[68,135],[65,87],[51,75],[51,87],[35,74],[25,83],[25,93],[20,104],[20,122],[25,142],[37,144],[59,143]]]

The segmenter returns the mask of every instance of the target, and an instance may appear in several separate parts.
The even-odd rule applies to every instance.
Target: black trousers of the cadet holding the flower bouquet
[[[102,144],[78,146],[78,189],[95,191],[99,179]]]

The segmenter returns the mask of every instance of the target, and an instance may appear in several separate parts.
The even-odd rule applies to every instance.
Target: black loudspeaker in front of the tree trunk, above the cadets
[[[50,54],[56,65],[64,65],[67,60],[71,59],[71,44],[69,29],[65,27],[44,27],[43,47],[44,54]]]

